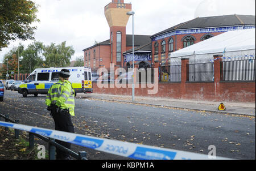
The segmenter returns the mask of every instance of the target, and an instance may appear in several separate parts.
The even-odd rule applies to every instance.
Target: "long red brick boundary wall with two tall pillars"
[[[219,55],[214,56],[218,58]],[[255,102],[255,82],[221,82],[220,64],[221,59],[214,60],[214,82],[187,82],[186,63],[188,59],[181,61],[180,83],[158,83],[158,92],[148,94],[148,89],[139,84],[135,88],[135,96],[166,97],[171,99],[207,100],[207,101],[232,101],[232,102]],[[217,69],[218,68],[218,69]],[[109,84],[106,84],[110,87]],[[130,84],[126,85],[131,87]],[[114,86],[112,86],[114,87]],[[109,95],[131,96],[131,88],[99,88],[93,83],[93,92]]]

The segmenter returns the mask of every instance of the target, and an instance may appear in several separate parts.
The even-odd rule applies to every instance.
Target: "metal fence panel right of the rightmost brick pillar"
[[[221,81],[255,81],[255,59],[220,62]]]

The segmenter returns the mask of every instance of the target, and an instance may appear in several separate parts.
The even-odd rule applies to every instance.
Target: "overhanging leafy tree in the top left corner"
[[[16,39],[34,40],[36,27],[31,24],[40,22],[36,12],[38,6],[32,1],[0,1],[0,50]]]

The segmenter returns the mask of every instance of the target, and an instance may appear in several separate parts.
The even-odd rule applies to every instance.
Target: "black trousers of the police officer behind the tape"
[[[69,113],[63,114],[63,113],[52,113],[53,120],[55,122],[55,130],[57,131],[65,131],[65,132],[72,132],[74,133],[74,126],[71,121],[71,115]],[[56,140],[56,143],[60,144],[61,146],[64,146],[68,149],[71,148],[71,143],[63,142],[60,140]],[[68,153],[65,153],[61,151],[60,149],[56,148],[56,159],[67,159]]]

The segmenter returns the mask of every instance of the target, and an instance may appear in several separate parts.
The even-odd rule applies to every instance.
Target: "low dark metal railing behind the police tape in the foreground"
[[[1,117],[5,119],[5,122],[19,123],[19,120],[13,121],[13,119],[10,119],[9,115],[7,115],[7,114],[5,116],[3,114],[0,114],[0,121],[1,121]],[[9,130],[9,128],[5,127],[5,131],[8,131],[8,130]],[[85,151],[80,151],[79,153],[76,153],[76,152],[72,151],[71,149],[68,149],[68,148],[56,143],[54,139],[47,138],[46,136],[35,134],[32,132],[29,132],[29,134],[28,134],[28,142],[29,142],[28,148],[29,149],[32,149],[35,146],[34,145],[35,144],[35,136],[37,136],[38,138],[40,138],[48,143],[48,159],[49,160],[55,160],[55,148],[58,148],[61,151],[67,152],[68,155],[74,157],[77,160],[87,160],[86,159],[87,153]],[[14,130],[14,138],[19,139],[19,130],[17,130],[17,129]]]

